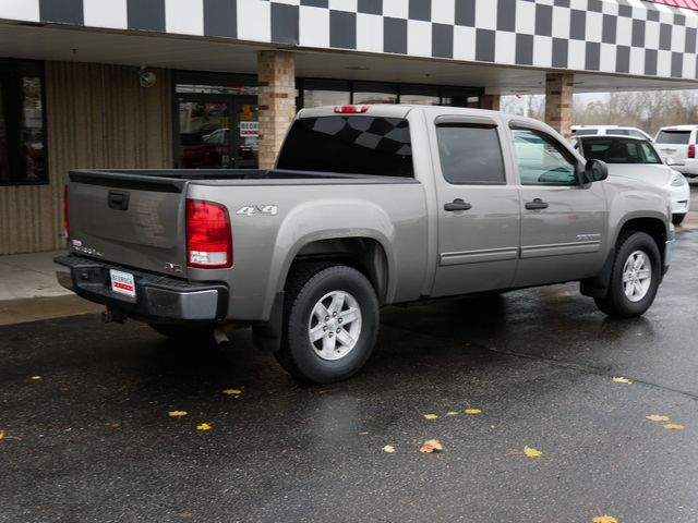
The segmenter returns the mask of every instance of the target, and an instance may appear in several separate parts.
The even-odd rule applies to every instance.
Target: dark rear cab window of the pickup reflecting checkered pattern
[[[337,115],[296,120],[278,169],[413,178],[407,120]]]

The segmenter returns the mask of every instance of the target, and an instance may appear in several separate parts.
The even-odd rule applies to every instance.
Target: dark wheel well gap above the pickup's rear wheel
[[[334,238],[311,242],[296,255],[290,270],[296,264],[321,260],[353,267],[369,279],[378,301],[385,302],[388,288],[388,264],[385,250],[376,240],[372,238]]]

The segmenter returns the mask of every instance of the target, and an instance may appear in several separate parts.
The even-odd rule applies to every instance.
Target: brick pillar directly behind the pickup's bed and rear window
[[[272,169],[296,115],[296,54],[257,53],[260,169]]]

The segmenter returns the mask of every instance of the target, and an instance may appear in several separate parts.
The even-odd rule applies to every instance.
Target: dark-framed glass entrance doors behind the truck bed
[[[178,168],[256,169],[256,97],[179,95],[176,118]]]

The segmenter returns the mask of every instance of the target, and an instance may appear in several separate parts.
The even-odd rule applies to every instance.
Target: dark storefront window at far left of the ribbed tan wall
[[[0,185],[48,182],[44,123],[41,64],[0,60]]]

